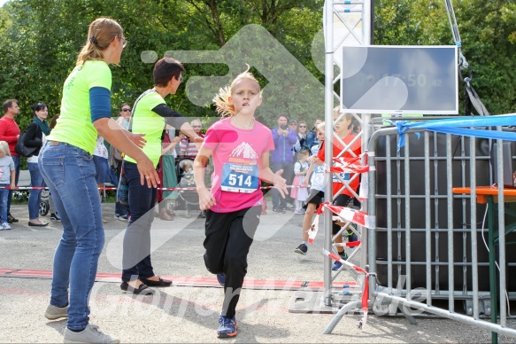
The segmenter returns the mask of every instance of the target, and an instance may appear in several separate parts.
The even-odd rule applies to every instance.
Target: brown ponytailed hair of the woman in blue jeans
[[[112,40],[123,38],[124,30],[111,18],[97,18],[89,24],[88,39],[77,57],[76,66],[82,66],[89,60],[104,59],[104,52]]]

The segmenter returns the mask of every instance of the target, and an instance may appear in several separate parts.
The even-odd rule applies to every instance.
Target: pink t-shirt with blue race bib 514
[[[258,170],[261,155],[274,149],[271,130],[258,121],[253,129],[239,129],[225,118],[208,129],[203,145],[212,150],[215,169],[211,192],[217,205],[211,210],[229,213],[261,206]]]

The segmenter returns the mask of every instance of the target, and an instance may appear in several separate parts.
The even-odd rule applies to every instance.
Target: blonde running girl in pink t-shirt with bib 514
[[[247,272],[247,254],[261,214],[260,179],[285,197],[287,184],[269,168],[274,149],[271,130],[254,119],[261,104],[258,81],[249,68],[214,98],[223,118],[206,132],[194,161],[199,206],[206,210],[204,264],[224,285],[217,337],[236,335],[235,308]],[[204,166],[213,156],[212,189],[204,184]]]

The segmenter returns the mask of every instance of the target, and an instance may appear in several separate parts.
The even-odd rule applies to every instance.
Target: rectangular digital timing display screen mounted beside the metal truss
[[[356,113],[458,113],[456,46],[343,46],[341,106]]]

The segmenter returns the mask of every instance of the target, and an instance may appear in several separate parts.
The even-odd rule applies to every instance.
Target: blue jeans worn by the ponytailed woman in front
[[[63,225],[63,236],[54,254],[50,304],[69,304],[66,326],[81,330],[89,323],[89,293],[104,246],[95,165],[88,152],[50,142],[43,146],[38,164]]]

